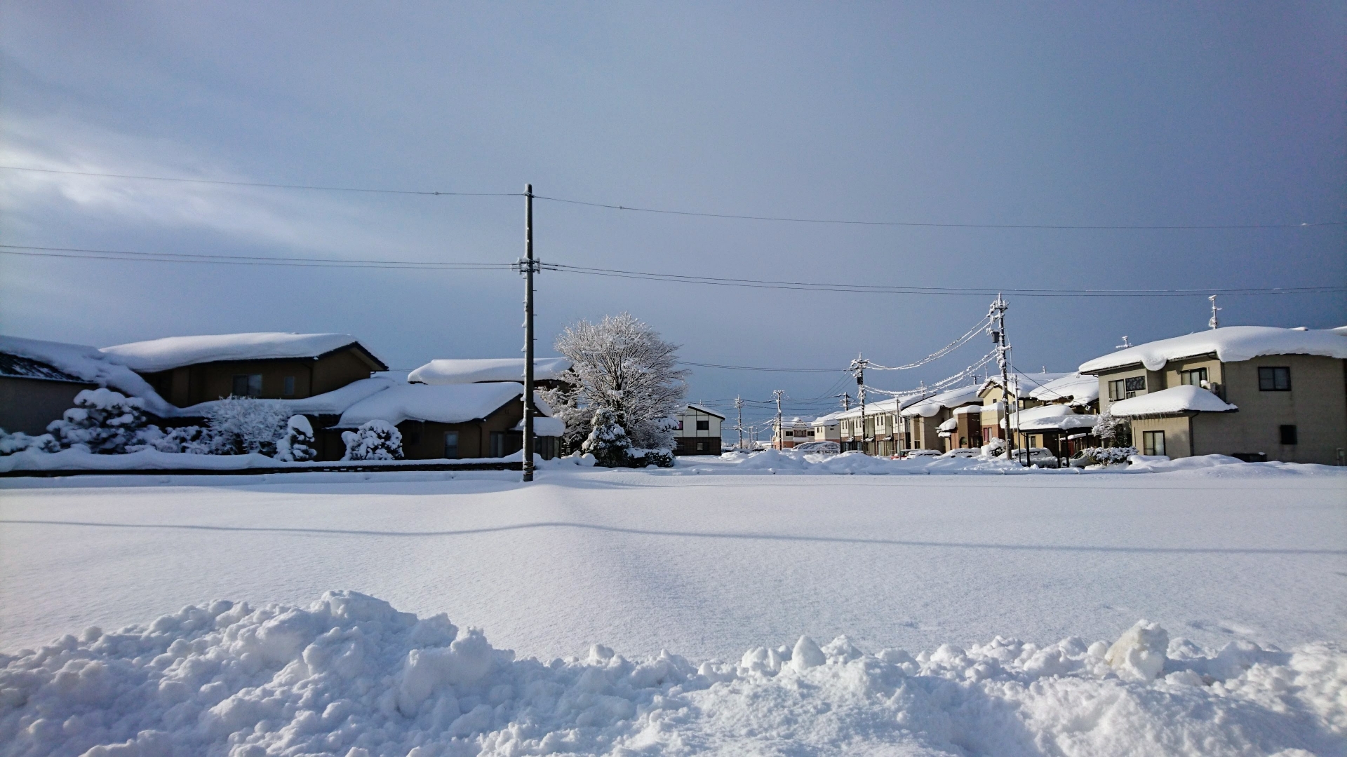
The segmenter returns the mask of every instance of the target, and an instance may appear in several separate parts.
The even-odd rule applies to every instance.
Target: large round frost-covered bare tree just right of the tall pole
[[[621,312],[598,323],[567,326],[555,348],[572,365],[559,376],[562,387],[544,392],[543,399],[566,423],[568,435],[591,430],[594,411],[607,408],[633,446],[674,446],[667,419],[687,393],[687,370],[675,368],[678,345]]]

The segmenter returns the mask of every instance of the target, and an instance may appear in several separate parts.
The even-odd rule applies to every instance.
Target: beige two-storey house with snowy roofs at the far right
[[[1347,465],[1347,327],[1226,326],[1098,357],[1099,409],[1171,458]]]

